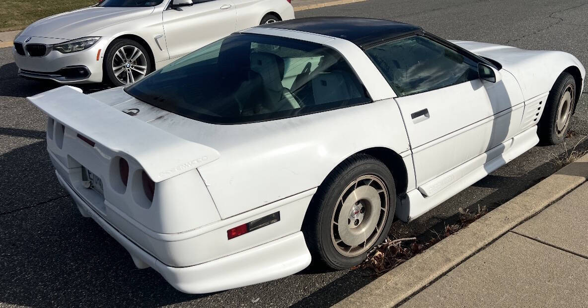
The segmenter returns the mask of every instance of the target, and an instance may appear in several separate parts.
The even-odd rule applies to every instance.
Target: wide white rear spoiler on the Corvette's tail
[[[154,182],[220,157],[215,149],[126,115],[73,86],[61,86],[26,99],[68,128],[121,156],[131,156]]]

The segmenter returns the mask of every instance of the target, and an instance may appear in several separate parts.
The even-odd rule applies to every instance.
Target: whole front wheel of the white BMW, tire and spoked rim
[[[116,39],[105,55],[104,69],[115,86],[129,85],[152,71],[149,53],[131,39]]]

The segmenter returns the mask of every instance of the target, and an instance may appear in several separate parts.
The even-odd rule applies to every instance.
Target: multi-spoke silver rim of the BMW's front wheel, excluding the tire
[[[139,81],[147,75],[147,58],[135,46],[122,46],[112,59],[112,72],[125,85]]]

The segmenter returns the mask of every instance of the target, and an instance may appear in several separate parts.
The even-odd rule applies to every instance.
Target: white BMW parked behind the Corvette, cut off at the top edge
[[[102,0],[28,26],[14,61],[25,78],[121,86],[232,32],[292,18],[290,0]]]

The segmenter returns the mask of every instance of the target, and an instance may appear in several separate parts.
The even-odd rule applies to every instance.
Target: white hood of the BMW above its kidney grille
[[[58,15],[49,16],[28,26],[21,36],[43,38],[76,39],[91,36],[106,26],[116,25],[131,19],[141,18],[153,12],[148,8],[102,8],[92,6]]]

